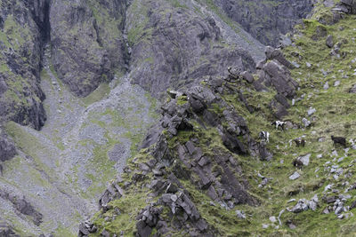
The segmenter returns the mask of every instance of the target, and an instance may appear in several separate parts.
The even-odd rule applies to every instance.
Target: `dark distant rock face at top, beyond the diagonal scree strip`
[[[312,0],[214,0],[223,11],[265,45],[277,46],[279,35],[292,30],[312,11]]]

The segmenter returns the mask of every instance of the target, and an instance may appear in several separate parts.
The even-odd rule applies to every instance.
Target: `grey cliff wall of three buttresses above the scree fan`
[[[55,73],[79,97],[108,82],[114,70],[131,69],[134,83],[160,97],[168,87],[229,66],[255,69],[249,52],[223,41],[214,18],[166,1],[6,1],[0,16],[6,38],[0,46],[0,116],[36,130],[46,120],[39,87],[46,43]]]

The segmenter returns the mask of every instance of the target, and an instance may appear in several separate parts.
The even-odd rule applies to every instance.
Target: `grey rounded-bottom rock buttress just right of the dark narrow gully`
[[[53,1],[53,67],[77,96],[109,82],[112,69],[125,71],[125,0]]]

